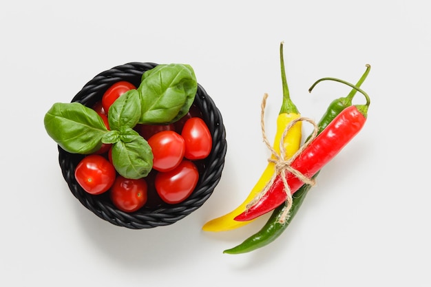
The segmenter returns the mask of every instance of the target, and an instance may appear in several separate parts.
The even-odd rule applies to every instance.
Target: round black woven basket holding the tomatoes
[[[136,87],[140,85],[143,72],[156,67],[156,63],[127,63],[101,72],[89,81],[81,89],[72,102],[92,106],[101,100],[103,93],[118,81],[129,81]],[[202,162],[202,171],[196,189],[179,204],[165,204],[155,208],[143,207],[134,213],[125,213],[116,209],[106,195],[91,195],[85,192],[76,182],[74,170],[82,155],[68,153],[59,147],[59,163],[63,177],[65,178],[73,195],[98,217],[107,220],[114,225],[132,229],[154,228],[167,226],[181,220],[193,211],[196,211],[211,196],[218,184],[224,167],[224,157],[227,150],[226,134],[222,121],[222,115],[211,97],[198,84],[198,91],[194,101],[202,111],[202,118],[207,123],[213,138],[213,147],[210,155]]]

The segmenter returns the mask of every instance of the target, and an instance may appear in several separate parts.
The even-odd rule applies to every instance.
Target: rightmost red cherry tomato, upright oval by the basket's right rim
[[[213,139],[202,118],[189,118],[182,128],[181,136],[185,140],[185,158],[202,160],[211,153]]]

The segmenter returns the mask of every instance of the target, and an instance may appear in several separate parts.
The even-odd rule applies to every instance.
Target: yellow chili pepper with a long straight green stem
[[[280,113],[277,116],[277,131],[275,134],[273,149],[277,154],[280,154],[280,141],[282,139],[282,134],[286,127],[296,118],[299,118],[301,114],[297,107],[293,104],[291,97],[288,92],[288,85],[286,81],[286,73],[284,70],[284,57],[283,57],[283,42],[280,44],[280,62],[281,62],[281,70],[282,70],[282,84],[283,84],[283,101],[282,107],[280,109]],[[302,123],[301,121],[297,122],[291,129],[289,129],[286,137],[284,138],[284,149],[286,151],[286,159],[291,158],[296,151],[299,149],[302,140]],[[272,156],[272,158],[274,158]],[[257,196],[260,191],[264,189],[266,184],[271,180],[275,173],[275,163],[269,162],[266,166],[266,169],[260,176],[260,179],[257,181],[247,198],[233,211],[217,217],[213,220],[210,220],[204,226],[202,226],[203,231],[229,231],[246,224],[249,224],[253,220],[240,222],[233,220],[236,216],[240,215],[246,210],[246,206]]]

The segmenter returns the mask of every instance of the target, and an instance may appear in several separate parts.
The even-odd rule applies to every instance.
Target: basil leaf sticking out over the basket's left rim
[[[43,122],[48,135],[70,153],[97,151],[107,132],[101,116],[81,103],[54,103]]]

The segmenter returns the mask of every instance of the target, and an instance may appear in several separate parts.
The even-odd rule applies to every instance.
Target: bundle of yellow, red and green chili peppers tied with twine
[[[269,145],[264,133],[266,94],[262,101],[262,134],[266,146],[272,152],[269,164],[249,196],[237,209],[207,222],[202,229],[213,232],[228,231],[249,224],[261,215],[271,211],[273,213],[260,231],[238,246],[225,250],[224,253],[248,253],[280,237],[313,187],[319,171],[361,131],[366,123],[370,98],[360,86],[370,72],[370,65],[366,65],[366,71],[356,85],[339,78],[321,78],[310,87],[309,92],[322,81],[337,81],[352,87],[347,96],[330,103],[316,124],[308,118],[301,117],[289,96],[284,71],[283,43],[280,44],[280,62],[283,103],[277,118],[277,133],[273,147]],[[365,104],[353,105],[353,98],[357,92],[364,95]],[[314,131],[301,146],[301,122],[304,120],[313,124]]]

